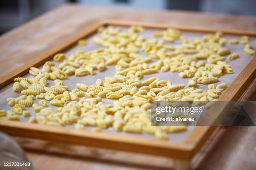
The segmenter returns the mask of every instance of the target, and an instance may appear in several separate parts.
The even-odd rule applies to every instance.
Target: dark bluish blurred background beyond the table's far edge
[[[64,3],[256,15],[256,0],[0,0],[0,34]]]

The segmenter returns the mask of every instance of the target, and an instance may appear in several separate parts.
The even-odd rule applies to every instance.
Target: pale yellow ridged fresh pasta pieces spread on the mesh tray
[[[144,38],[144,28],[132,26],[127,31],[109,26],[99,28],[101,37],[93,41],[102,48],[90,51],[78,51],[69,58],[63,53],[54,56],[54,62],[61,62],[56,67],[47,61],[42,69],[31,67],[33,77],[17,77],[13,85],[14,92],[20,97],[8,98],[12,108],[0,110],[0,119],[19,120],[19,115],[31,117],[29,122],[42,125],[64,126],[74,124],[77,129],[93,126],[92,130],[113,129],[128,133],[148,133],[166,140],[168,133],[186,130],[180,126],[151,126],[151,102],[158,101],[201,101],[205,104],[215,101],[225,83],[219,77],[232,74],[231,65],[225,62],[239,57],[230,54],[225,46],[227,40],[221,32],[208,34],[195,40],[187,40],[179,30],[167,29],[154,32],[152,39]],[[181,40],[181,45],[171,45]],[[245,52],[255,54],[249,44],[249,37],[243,36],[241,42],[230,40],[230,44],[242,43]],[[86,45],[86,40],[79,40],[79,45]],[[145,55],[142,55],[141,53]],[[154,60],[157,62],[151,63]],[[95,70],[105,71],[108,65],[115,65],[116,74],[97,79],[95,85],[77,82],[76,89],[69,89],[64,84],[69,76],[95,75]],[[179,72],[181,78],[190,78],[187,87],[184,84],[172,84],[170,81],[144,75],[157,72]],[[47,82],[54,85],[48,87]],[[209,84],[208,90],[198,89],[197,83]],[[35,97],[39,99],[34,103]],[[102,98],[114,100],[105,104]],[[53,107],[48,107],[48,102]],[[33,107],[31,115],[26,107]]]

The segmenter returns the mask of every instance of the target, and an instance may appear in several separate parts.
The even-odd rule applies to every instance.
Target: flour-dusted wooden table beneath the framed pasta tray
[[[100,19],[256,31],[256,18],[248,16],[63,5],[0,37],[0,76]],[[243,99],[256,100],[255,89],[256,81],[249,87]],[[210,147],[201,151],[198,157],[202,158],[195,162],[194,168],[247,170],[256,167],[256,127],[229,127],[220,133],[224,135],[221,135],[219,140],[210,140]],[[169,158],[24,138],[15,139],[26,150],[28,159],[36,170],[172,168],[172,160]]]

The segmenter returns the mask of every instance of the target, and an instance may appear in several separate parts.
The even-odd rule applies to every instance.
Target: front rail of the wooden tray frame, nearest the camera
[[[100,133],[73,128],[0,120],[0,129],[12,136],[35,138],[54,142],[123,150],[135,153],[191,159],[190,145],[157,139]]]

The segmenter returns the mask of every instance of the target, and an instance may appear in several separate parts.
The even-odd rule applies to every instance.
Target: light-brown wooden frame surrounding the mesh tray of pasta
[[[56,45],[43,54],[35,57],[33,60],[28,61],[25,65],[18,67],[7,75],[0,77],[0,88],[13,82],[15,77],[23,76],[28,73],[30,67],[38,67],[42,63],[50,60],[54,54],[65,51],[75,45],[77,40],[88,37],[97,31],[97,28],[105,25],[141,25],[145,28],[166,29],[169,27],[177,28],[182,31],[190,32],[216,32],[222,31],[225,34],[231,35],[250,35],[256,36],[256,32],[246,32],[238,30],[217,30],[208,28],[189,28],[184,26],[174,25],[159,25],[152,23],[135,23],[123,22],[116,20],[105,20],[78,32],[77,34],[69,37],[61,44]],[[238,100],[239,97],[246,90],[248,85],[255,79],[256,75],[256,56],[248,63],[242,72],[231,83],[227,90],[221,95],[220,101]],[[225,106],[220,107],[216,115],[221,115]],[[176,159],[175,167],[188,169],[190,161],[195,154],[200,150],[201,146],[206,142],[207,138],[213,134],[217,126],[197,126],[188,135],[183,143],[176,143],[172,141],[161,141],[156,139],[146,139],[132,136],[125,136],[120,138],[120,135],[97,133],[90,131],[82,131],[76,129],[69,129],[64,127],[51,127],[45,125],[28,124],[26,122],[13,122],[10,120],[1,120],[0,129],[5,133],[15,136],[22,136],[28,138],[37,138],[42,140],[51,140],[62,143],[72,143],[79,145],[94,146],[100,148],[108,148],[114,150],[123,150],[134,153],[145,153],[159,156],[166,156]]]

